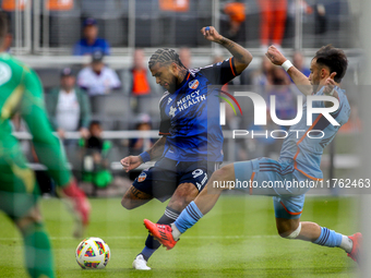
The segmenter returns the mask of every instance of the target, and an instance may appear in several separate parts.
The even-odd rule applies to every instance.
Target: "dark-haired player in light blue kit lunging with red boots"
[[[318,182],[323,179],[320,169],[323,149],[332,142],[340,125],[348,121],[350,112],[345,90],[339,87],[347,70],[347,58],[343,50],[332,46],[322,47],[312,59],[311,74],[307,78],[274,46],[268,48],[266,56],[272,63],[282,65],[288,72],[302,94],[336,98],[339,107],[331,116],[339,125],[333,125],[323,114],[315,113],[312,125],[307,125],[307,104],[304,104],[302,119],[290,128],[292,132],[289,132],[283,143],[278,161],[258,158],[227,165],[214,172],[205,189],[194,202],[185,207],[173,223],[156,225],[147,219],[144,220],[144,223],[161,244],[172,249],[180,234],[208,213],[222,191],[228,189],[228,186],[214,188],[213,184],[220,184],[220,182],[223,184],[227,181],[236,181],[236,184],[237,181],[250,181],[251,184],[254,181],[258,186],[250,185],[248,189],[250,194],[273,196],[276,226],[280,237],[311,241],[328,247],[340,247],[358,263],[361,233],[347,237],[314,222],[300,221],[304,194],[310,188],[282,186],[287,181],[294,184],[295,182]],[[334,106],[332,101],[313,101],[314,108],[332,106]],[[298,130],[302,131],[300,136],[296,132]],[[311,132],[311,136],[308,136],[309,132]],[[267,181],[273,181],[273,186],[262,186],[263,182]]]

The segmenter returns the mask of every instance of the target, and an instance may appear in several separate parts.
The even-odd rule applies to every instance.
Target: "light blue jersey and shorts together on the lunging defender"
[[[239,184],[244,183],[251,195],[273,196],[277,218],[300,218],[304,194],[311,189],[309,181],[313,183],[323,178],[320,168],[323,149],[332,142],[339,128],[348,121],[350,113],[345,90],[339,87],[335,89],[338,93],[339,108],[331,116],[340,125],[331,124],[322,114],[313,114],[312,125],[307,125],[307,104],[304,104],[302,119],[289,130],[278,161],[262,157],[234,164],[236,188],[241,188]],[[316,95],[323,95],[323,89]],[[313,108],[325,107],[324,101],[313,101],[312,106]]]

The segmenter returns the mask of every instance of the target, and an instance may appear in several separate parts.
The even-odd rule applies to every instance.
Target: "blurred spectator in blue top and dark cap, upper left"
[[[92,55],[96,50],[100,50],[105,55],[110,55],[109,44],[98,38],[98,26],[95,19],[88,17],[84,21],[84,37],[73,47],[74,56]]]

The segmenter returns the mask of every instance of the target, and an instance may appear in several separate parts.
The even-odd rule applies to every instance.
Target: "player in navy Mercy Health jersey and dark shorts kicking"
[[[205,39],[224,46],[232,57],[198,70],[187,69],[172,49],[158,49],[149,59],[149,70],[166,93],[159,101],[161,136],[152,148],[121,160],[124,170],[156,160],[142,171],[122,197],[132,209],[152,198],[170,198],[158,223],[171,223],[180,211],[203,190],[207,178],[223,161],[223,133],[219,125],[219,94],[210,85],[224,85],[251,62],[251,53],[223,37],[212,27],[201,29]],[[206,101],[207,99],[207,101]],[[159,247],[148,235],[145,247],[135,257],[133,268],[151,269],[147,261]]]

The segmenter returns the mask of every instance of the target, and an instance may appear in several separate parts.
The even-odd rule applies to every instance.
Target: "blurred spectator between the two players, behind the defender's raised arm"
[[[286,71],[274,67],[271,77],[272,85],[267,86],[267,104],[271,107],[271,96],[276,96],[276,116],[280,120],[291,120],[297,116],[297,96],[291,90],[290,80]],[[282,126],[286,128],[286,126]]]

